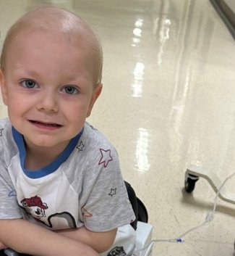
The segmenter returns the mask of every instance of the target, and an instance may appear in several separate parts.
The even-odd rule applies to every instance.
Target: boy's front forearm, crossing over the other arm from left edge
[[[86,244],[27,220],[0,220],[0,227],[1,243],[17,252],[41,256],[98,256]]]

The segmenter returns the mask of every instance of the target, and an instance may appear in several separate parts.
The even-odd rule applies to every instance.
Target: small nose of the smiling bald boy
[[[59,105],[56,95],[52,91],[46,91],[38,100],[38,110],[45,112],[58,112]]]

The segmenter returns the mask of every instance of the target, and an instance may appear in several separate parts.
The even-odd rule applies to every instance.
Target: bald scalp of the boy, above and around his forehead
[[[4,71],[7,65],[9,46],[22,32],[44,31],[51,35],[61,34],[69,43],[77,47],[89,47],[94,61],[94,73],[97,83],[101,82],[103,53],[98,38],[87,23],[77,15],[59,7],[41,7],[27,12],[9,29],[1,52],[0,67]],[[15,43],[15,42],[14,42]]]

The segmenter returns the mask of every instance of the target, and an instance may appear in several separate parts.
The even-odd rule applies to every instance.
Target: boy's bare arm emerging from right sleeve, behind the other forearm
[[[95,249],[96,252],[101,253],[105,252],[111,247],[112,244],[114,244],[116,231],[117,228],[106,232],[93,232],[89,231],[85,227],[82,227],[56,231],[56,233],[62,236],[66,236],[70,239],[81,241],[82,243],[87,244]]]

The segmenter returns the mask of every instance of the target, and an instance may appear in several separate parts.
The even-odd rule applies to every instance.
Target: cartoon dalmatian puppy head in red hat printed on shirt
[[[46,205],[45,202],[40,199],[40,197],[35,196],[35,197],[30,197],[30,198],[25,198],[20,201],[22,204],[22,207],[25,208],[25,211],[32,215],[33,218],[36,220],[39,220],[40,218],[46,217],[46,212],[45,210],[48,209],[48,206]]]

